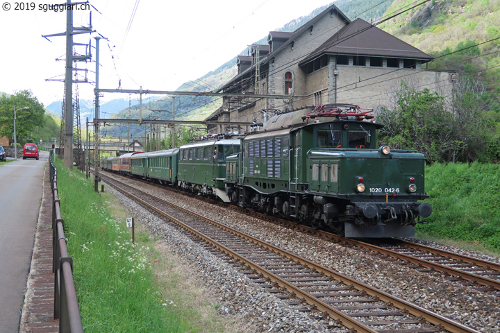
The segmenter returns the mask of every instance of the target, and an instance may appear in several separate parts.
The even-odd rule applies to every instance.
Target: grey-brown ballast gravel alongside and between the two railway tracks
[[[500,291],[495,296],[450,279],[449,275],[419,272],[402,262],[379,259],[360,248],[342,246],[197,198],[150,187],[137,180],[128,179],[127,182],[178,207],[251,234],[478,332],[500,332]],[[241,268],[225,261],[224,257],[214,255],[200,242],[192,241],[172,223],[166,223],[165,219],[119,194],[113,187],[108,186],[107,189],[133,214],[136,222],[144,224],[151,234],[160,236],[172,253],[185,259],[185,264],[199,277],[200,283],[219,300],[220,314],[239,316],[240,320],[248,323],[241,332],[347,332],[345,327],[331,318],[322,318],[317,311],[299,311],[299,308],[308,305],[290,306],[288,302],[276,298],[247,278]],[[499,258],[481,253],[450,246],[440,248],[499,262]]]

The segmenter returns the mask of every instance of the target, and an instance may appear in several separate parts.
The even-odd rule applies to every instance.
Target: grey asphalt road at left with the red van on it
[[[0,167],[0,332],[19,332],[49,153]]]

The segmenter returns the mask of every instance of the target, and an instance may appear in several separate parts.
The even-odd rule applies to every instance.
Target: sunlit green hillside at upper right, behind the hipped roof
[[[410,3],[394,0],[386,16]],[[500,0],[432,0],[378,27],[435,57],[429,69],[458,70],[481,81],[499,101]]]

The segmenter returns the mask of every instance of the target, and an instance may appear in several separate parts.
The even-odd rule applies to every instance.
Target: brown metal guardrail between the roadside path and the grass
[[[52,271],[54,273],[54,319],[59,319],[59,332],[83,333],[80,308],[73,280],[73,258],[69,257],[64,235],[64,220],[60,214],[57,169],[50,153],[52,189]]]

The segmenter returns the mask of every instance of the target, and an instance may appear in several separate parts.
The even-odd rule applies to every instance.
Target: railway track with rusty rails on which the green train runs
[[[184,191],[172,189],[163,185],[156,185],[146,181],[143,182],[144,184],[147,184],[149,186],[152,185],[160,189],[169,189],[172,191],[178,191],[182,194],[186,194],[186,192]],[[287,220],[278,219],[274,216],[269,216],[258,212],[251,212],[241,207],[221,203],[220,201],[195,196],[192,194],[186,195],[191,195],[192,197],[199,200],[207,200],[216,205],[224,205],[224,207],[230,207],[233,210],[237,210],[244,214],[250,214],[260,219],[265,219],[266,221],[289,225],[290,228],[297,228],[311,234],[317,234],[322,237],[327,237],[328,239],[332,239],[333,241],[340,242],[342,244],[358,246],[360,248],[364,248],[365,250],[372,251],[373,255],[381,259],[385,259],[388,261],[400,259],[402,260],[401,264],[406,264],[410,268],[415,268],[418,271],[436,271],[447,273],[451,276],[451,278],[448,278],[447,280],[452,281],[457,280],[457,278],[463,279],[465,280],[465,283],[472,284],[471,287],[478,291],[491,293],[494,296],[500,297],[500,264],[497,264],[495,262],[488,262],[483,259],[469,257],[467,255],[440,250],[438,248],[424,246],[400,239],[393,239],[393,244],[377,246],[374,243],[339,237],[337,234],[333,234],[331,232],[315,230],[306,225],[298,225]]]

